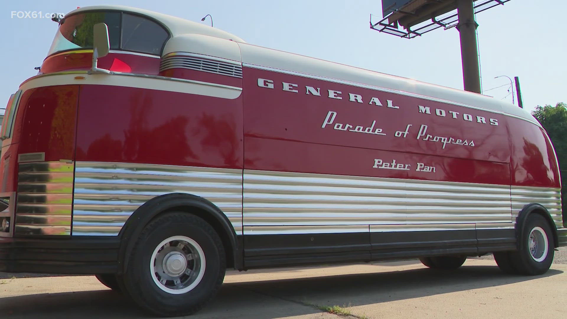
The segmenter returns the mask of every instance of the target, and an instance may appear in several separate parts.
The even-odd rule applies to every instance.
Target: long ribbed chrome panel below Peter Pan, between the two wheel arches
[[[511,223],[510,186],[244,170],[243,225]]]

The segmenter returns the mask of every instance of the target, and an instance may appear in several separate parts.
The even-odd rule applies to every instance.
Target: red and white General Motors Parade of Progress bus
[[[493,253],[534,275],[567,244],[527,111],[131,7],[67,14],[1,135],[0,271],[94,274],[162,316],[226,268]]]

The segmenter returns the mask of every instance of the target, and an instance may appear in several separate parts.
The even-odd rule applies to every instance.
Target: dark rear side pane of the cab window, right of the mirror
[[[121,48],[128,51],[160,54],[168,34],[159,24],[136,15],[122,15]]]

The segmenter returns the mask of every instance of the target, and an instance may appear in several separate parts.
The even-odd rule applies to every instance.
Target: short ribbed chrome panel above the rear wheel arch
[[[543,205],[557,227],[563,226],[561,216],[561,188],[512,186],[512,216],[514,220],[527,204]]]

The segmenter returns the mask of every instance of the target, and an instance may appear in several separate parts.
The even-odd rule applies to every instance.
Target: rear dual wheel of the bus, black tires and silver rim
[[[530,249],[531,234],[538,244]],[[541,275],[549,270],[555,254],[551,226],[538,213],[531,213],[526,219],[518,237],[518,250],[494,253],[494,259],[502,271],[508,274]],[[533,250],[533,251],[532,251]],[[534,255],[532,255],[534,254]],[[504,257],[507,257],[504,258]]]

